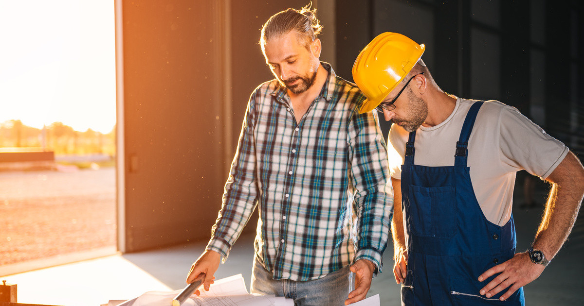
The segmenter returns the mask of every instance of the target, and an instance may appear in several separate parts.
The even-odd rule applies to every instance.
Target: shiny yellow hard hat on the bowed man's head
[[[361,50],[353,64],[353,80],[367,100],[359,109],[374,110],[412,70],[426,46],[399,33],[379,34]]]

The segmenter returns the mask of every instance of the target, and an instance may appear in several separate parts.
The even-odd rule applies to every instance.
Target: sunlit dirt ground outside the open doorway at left
[[[0,266],[116,244],[114,167],[0,172]]]

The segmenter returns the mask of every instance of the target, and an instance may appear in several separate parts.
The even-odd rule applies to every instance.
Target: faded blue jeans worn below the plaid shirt
[[[297,306],[345,305],[353,289],[353,273],[349,266],[339,269],[321,279],[300,282],[289,279],[274,280],[272,272],[263,268],[253,258],[251,293],[273,294],[294,299]]]

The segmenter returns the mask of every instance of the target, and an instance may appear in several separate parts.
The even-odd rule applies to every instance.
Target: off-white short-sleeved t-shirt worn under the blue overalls
[[[456,142],[464,119],[475,100],[457,98],[450,116],[439,125],[416,131],[414,163],[453,166]],[[405,143],[409,132],[394,124],[388,141],[392,178],[401,180]],[[391,147],[395,150],[392,150]],[[564,143],[524,117],[515,107],[486,101],[477,115],[468,140],[472,187],[487,220],[499,226],[511,217],[515,174],[519,170],[547,178],[568,154]]]

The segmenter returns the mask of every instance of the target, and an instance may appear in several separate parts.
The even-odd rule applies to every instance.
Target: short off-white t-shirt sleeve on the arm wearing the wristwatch
[[[545,133],[515,107],[503,107],[499,119],[503,163],[544,180],[568,154],[564,143]]]

